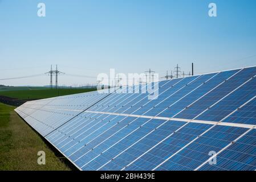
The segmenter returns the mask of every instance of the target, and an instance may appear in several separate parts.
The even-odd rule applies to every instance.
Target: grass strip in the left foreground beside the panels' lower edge
[[[0,103],[0,170],[70,170],[13,109]],[[37,163],[38,151],[46,165]]]

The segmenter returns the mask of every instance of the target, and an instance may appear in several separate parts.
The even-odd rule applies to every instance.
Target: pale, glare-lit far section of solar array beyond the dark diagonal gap
[[[109,90],[109,92],[112,91]],[[24,113],[26,110],[26,122],[34,127],[38,133],[46,136],[108,95],[109,93],[104,92],[88,92],[31,101],[18,107],[15,111]]]

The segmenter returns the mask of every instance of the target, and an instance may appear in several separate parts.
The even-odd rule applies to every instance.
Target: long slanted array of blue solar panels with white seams
[[[26,102],[15,111],[81,170],[255,170],[256,67]],[[216,159],[216,163],[214,160]]]

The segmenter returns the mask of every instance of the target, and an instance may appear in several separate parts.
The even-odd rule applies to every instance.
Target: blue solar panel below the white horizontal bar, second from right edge
[[[157,169],[194,170],[210,158],[210,152],[214,151],[217,153],[227,144],[245,133],[246,130],[248,129],[215,126]]]

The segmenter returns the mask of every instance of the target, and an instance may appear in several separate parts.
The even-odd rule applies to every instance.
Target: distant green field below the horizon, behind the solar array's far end
[[[95,89],[46,89],[46,90],[15,90],[0,92],[0,96],[17,98],[19,100],[40,99],[56,96],[65,96],[68,94],[90,92]]]

